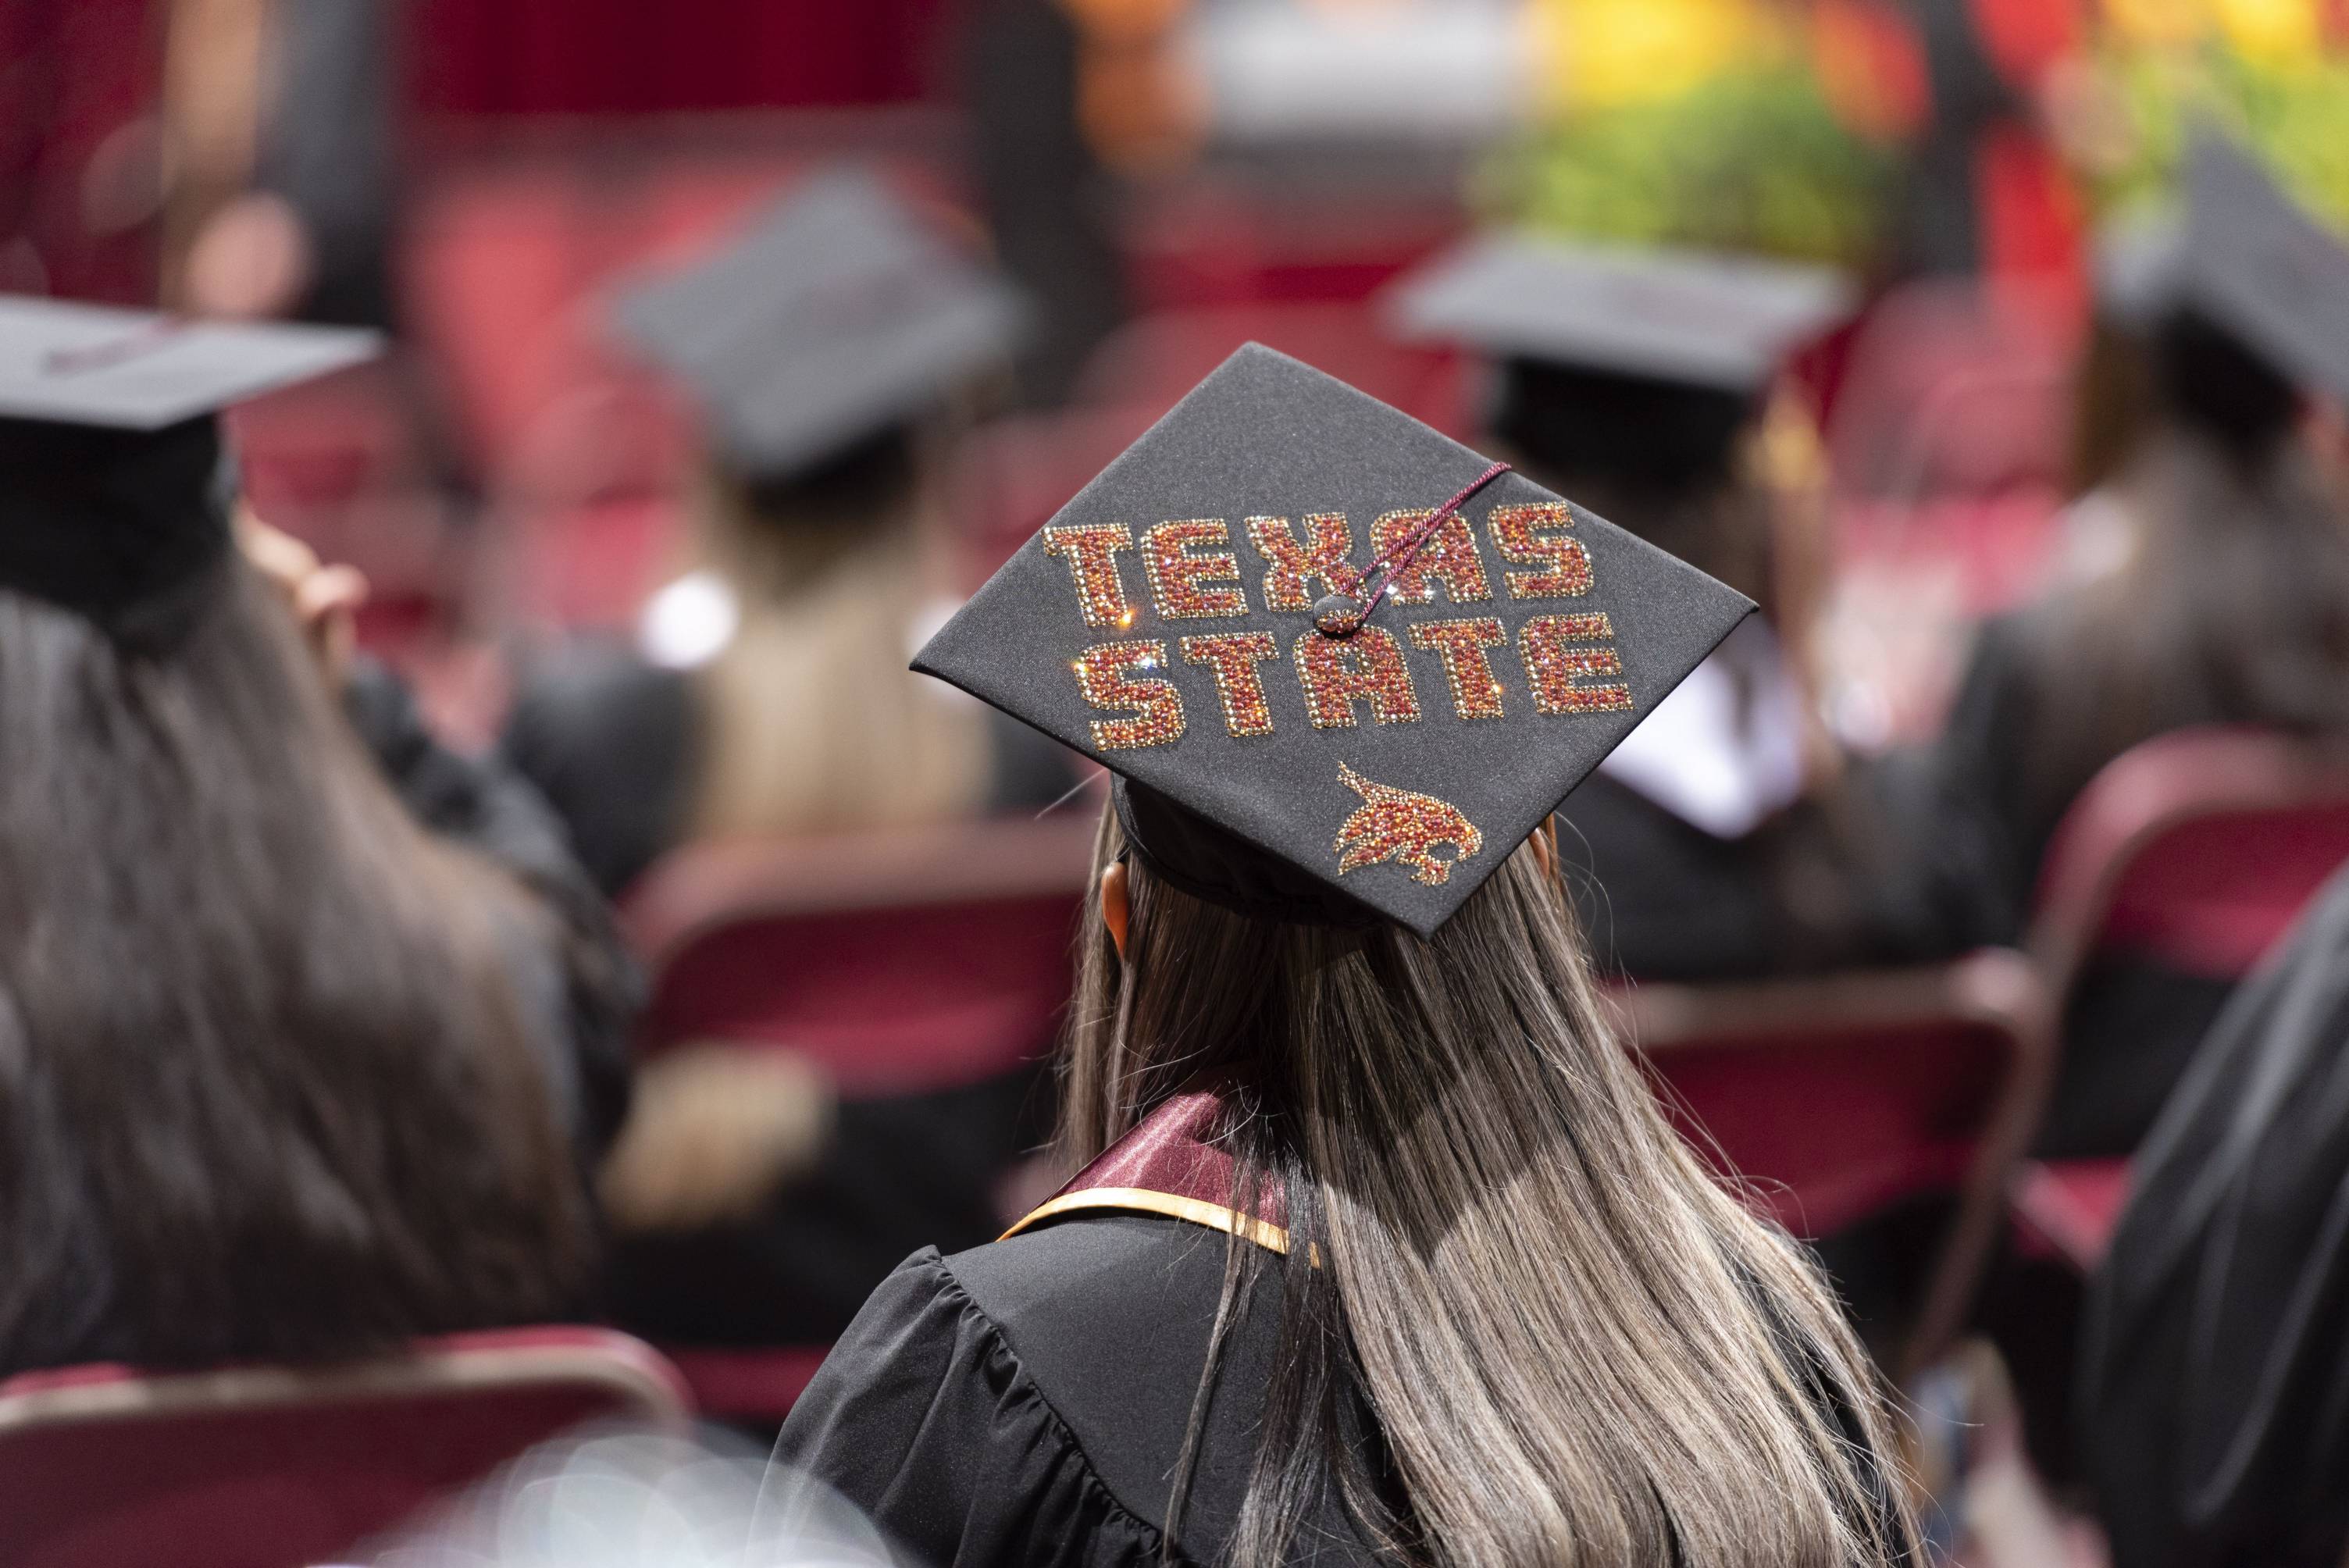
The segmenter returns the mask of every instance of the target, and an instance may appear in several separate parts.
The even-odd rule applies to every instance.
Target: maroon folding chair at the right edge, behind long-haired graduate
[[[2156,958],[2239,979],[2349,861],[2349,753],[2267,730],[2159,735],[2105,765],[2039,873],[2030,948],[2055,1016],[2088,962]],[[2025,1235],[2091,1268],[2128,1197],[2126,1160],[2030,1162]]]

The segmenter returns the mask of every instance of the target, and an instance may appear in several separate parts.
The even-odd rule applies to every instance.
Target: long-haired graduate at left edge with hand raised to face
[[[214,413],[371,352],[0,300],[0,1376],[592,1310],[634,974]]]

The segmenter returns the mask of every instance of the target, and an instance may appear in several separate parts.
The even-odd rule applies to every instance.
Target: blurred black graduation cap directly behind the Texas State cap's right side
[[[1470,239],[1388,298],[1405,338],[1496,361],[1487,425],[1560,474],[1722,472],[1785,354],[1846,315],[1823,268],[1534,235]]]

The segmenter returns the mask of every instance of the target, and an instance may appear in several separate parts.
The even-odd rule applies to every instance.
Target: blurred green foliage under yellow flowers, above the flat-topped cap
[[[1797,63],[1647,103],[1569,110],[1480,174],[1492,216],[1586,239],[1865,263],[1893,155],[1846,129]]]

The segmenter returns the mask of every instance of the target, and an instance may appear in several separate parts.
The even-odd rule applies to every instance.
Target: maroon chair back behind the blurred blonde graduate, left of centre
[[[1090,810],[1069,810],[681,850],[625,906],[655,974],[644,1049],[794,1049],[846,1096],[1017,1070],[1069,1002],[1092,831]],[[665,1350],[700,1408],[775,1422],[827,1347]]]

